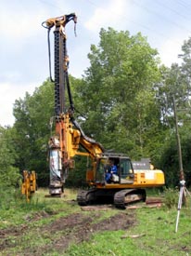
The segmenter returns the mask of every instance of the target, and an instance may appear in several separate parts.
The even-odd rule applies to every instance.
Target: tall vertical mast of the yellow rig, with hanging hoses
[[[50,185],[49,192],[51,195],[60,195],[63,192],[63,184],[68,175],[70,165],[69,145],[71,139],[69,136],[70,113],[73,111],[73,104],[70,95],[69,84],[69,58],[66,47],[65,26],[70,21],[74,23],[77,17],[74,13],[53,18],[43,22],[43,26],[48,29],[48,47],[49,47],[49,68],[51,77],[51,58],[50,58],[50,41],[49,33],[52,28],[54,31],[55,47],[55,115],[56,115],[56,135],[52,136],[48,142],[49,145],[49,168],[50,168]],[[53,80],[52,80],[53,81]],[[65,90],[68,90],[70,110],[66,111]]]

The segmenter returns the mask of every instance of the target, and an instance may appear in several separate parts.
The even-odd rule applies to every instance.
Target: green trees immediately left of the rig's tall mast
[[[54,86],[46,81],[36,88],[33,95],[26,93],[24,100],[14,105],[16,122],[14,142],[20,170],[35,170],[38,182],[47,185],[49,172],[47,163],[47,141],[50,137],[49,120],[54,110]]]

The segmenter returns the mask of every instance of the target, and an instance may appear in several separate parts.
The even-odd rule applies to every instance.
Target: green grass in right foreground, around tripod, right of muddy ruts
[[[175,195],[174,205],[176,203],[177,206],[178,194]],[[167,200],[169,200],[169,197]],[[99,232],[93,235],[90,241],[83,242],[80,245],[72,245],[66,253],[60,255],[190,255],[191,199],[187,198],[187,201],[188,207],[181,209],[177,233],[175,233],[177,217],[175,207],[170,209],[169,206],[160,209],[135,209],[134,214],[136,215],[137,224],[134,227],[127,231]],[[134,238],[134,235],[138,237]]]

